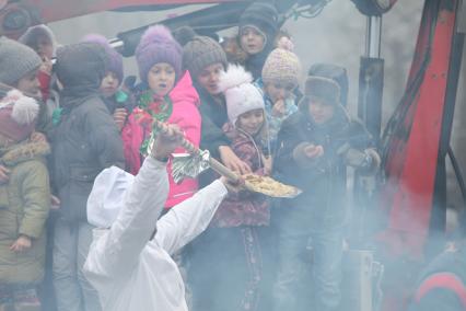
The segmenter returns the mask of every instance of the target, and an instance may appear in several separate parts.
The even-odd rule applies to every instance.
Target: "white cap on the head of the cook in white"
[[[112,166],[102,171],[95,178],[88,198],[88,221],[97,228],[109,228],[116,220],[127,191],[135,176],[124,170]]]

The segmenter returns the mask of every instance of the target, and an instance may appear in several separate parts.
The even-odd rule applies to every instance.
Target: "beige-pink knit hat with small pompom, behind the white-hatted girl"
[[[269,54],[264,64],[263,81],[266,84],[280,83],[298,87],[300,74],[300,59],[291,51],[290,45],[283,37],[282,41],[279,42],[279,47]]]

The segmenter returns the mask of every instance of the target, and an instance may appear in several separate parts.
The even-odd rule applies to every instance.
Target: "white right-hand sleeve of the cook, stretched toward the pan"
[[[168,254],[182,249],[206,230],[226,194],[225,186],[220,181],[214,181],[174,206],[156,223],[156,243]]]

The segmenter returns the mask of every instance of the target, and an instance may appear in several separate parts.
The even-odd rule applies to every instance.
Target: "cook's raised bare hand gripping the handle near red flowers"
[[[158,133],[152,148],[152,157],[159,161],[168,158],[184,138],[182,129],[176,124],[165,124],[163,130]]]

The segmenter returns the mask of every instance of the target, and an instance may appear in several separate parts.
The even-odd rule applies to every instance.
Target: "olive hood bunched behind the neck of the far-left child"
[[[43,158],[50,153],[50,146],[46,141],[25,141],[10,147],[0,148],[0,162],[13,166],[21,162]]]

